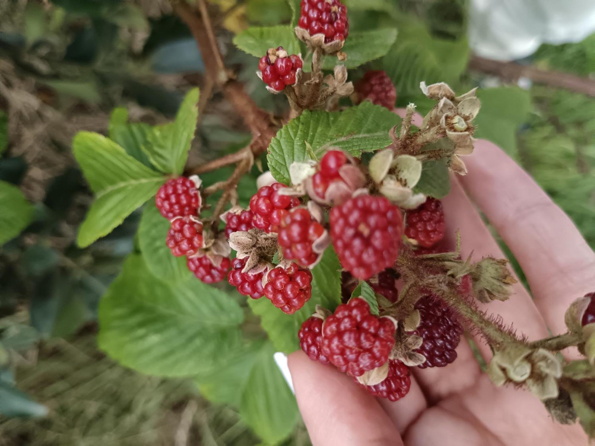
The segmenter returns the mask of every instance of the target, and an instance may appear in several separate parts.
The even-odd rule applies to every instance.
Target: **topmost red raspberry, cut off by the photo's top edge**
[[[324,42],[345,40],[349,34],[347,7],[339,0],[302,0],[299,22],[311,36],[324,34]]]

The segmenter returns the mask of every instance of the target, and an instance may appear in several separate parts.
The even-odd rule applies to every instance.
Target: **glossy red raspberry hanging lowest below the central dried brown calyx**
[[[293,315],[312,297],[312,273],[291,263],[286,269],[277,266],[268,272],[264,295],[283,313]]]

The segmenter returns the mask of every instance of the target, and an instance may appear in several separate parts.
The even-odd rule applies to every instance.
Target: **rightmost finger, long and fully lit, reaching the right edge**
[[[467,161],[468,160],[468,161]],[[593,291],[595,254],[568,216],[493,143],[478,140],[461,183],[521,264],[537,307],[554,334],[564,312]]]

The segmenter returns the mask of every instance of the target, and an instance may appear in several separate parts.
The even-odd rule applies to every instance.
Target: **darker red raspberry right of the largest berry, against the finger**
[[[417,240],[419,246],[434,246],[444,238],[446,223],[440,200],[428,197],[425,203],[407,212],[405,235]]]

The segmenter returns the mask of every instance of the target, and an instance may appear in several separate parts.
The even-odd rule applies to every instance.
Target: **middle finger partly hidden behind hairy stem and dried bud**
[[[461,233],[462,258],[465,259],[471,252],[473,261],[485,256],[505,257],[461,185],[455,178],[451,183],[450,193],[442,200],[444,217],[447,234],[450,237],[457,230]],[[547,336],[543,318],[525,288],[520,283],[516,283],[512,285],[512,290],[512,296],[504,302],[493,301],[488,304],[478,302],[477,306],[487,313],[502,316],[507,326],[522,328],[523,334],[530,338]],[[491,357],[490,349],[481,337],[477,335],[474,339],[484,357]]]

